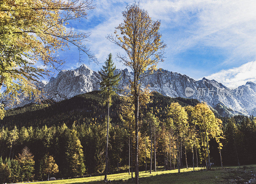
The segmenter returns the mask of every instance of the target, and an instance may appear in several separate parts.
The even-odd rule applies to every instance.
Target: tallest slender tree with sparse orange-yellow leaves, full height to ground
[[[163,61],[164,48],[166,44],[161,41],[160,20],[152,20],[146,10],[140,9],[139,4],[127,5],[122,12],[124,22],[122,22],[114,32],[108,35],[108,40],[121,47],[125,55],[117,53],[119,59],[125,66],[131,68],[134,77],[130,80],[134,89],[135,105],[135,183],[138,180],[138,116],[139,116],[139,96],[141,85],[146,76],[152,75],[156,70],[157,63]]]

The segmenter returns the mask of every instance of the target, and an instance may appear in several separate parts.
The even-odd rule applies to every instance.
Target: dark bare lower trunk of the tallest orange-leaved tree
[[[135,82],[135,81],[134,81]],[[135,89],[136,90],[136,89]],[[139,96],[135,91],[135,184],[139,183],[139,170],[138,170],[138,146],[139,146]]]

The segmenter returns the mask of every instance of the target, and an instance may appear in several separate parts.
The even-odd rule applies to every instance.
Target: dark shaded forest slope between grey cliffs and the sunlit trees
[[[113,105],[110,108],[110,117],[112,124],[120,124],[118,110],[120,109],[120,96],[113,97]],[[170,98],[159,93],[154,93],[153,102],[148,108],[164,109],[172,102],[179,102],[180,105],[195,106],[199,103],[195,99]],[[146,112],[148,108],[143,110]],[[156,109],[157,109],[156,108]],[[65,123],[68,127],[75,124],[90,124],[92,118],[97,123],[102,123],[106,116],[106,105],[98,91],[77,95],[71,99],[60,102],[44,101],[42,104],[29,104],[24,107],[10,109],[6,111],[3,120],[0,120],[0,126],[17,128],[22,126],[42,127],[59,125]],[[162,110],[156,110],[157,116],[163,115]]]

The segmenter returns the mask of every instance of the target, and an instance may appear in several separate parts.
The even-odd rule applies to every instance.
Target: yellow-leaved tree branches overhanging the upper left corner
[[[83,54],[96,61],[84,44],[89,34],[69,26],[94,8],[92,0],[0,0],[0,90],[8,102],[19,103],[20,94],[40,100],[36,83],[64,63],[59,51],[75,46],[80,61]]]

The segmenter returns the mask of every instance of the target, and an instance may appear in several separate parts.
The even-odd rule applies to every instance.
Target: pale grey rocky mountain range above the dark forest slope
[[[119,85],[124,88],[133,73],[128,69],[116,72],[121,73]],[[157,74],[157,73],[161,74]],[[203,78],[196,81],[186,75],[157,70],[154,75],[148,76],[143,81],[143,86],[149,85],[150,90],[159,92],[170,97],[194,98],[205,101],[215,108],[222,116],[233,115],[256,115],[256,84],[247,82],[245,85],[231,90],[215,80]],[[78,94],[91,92],[100,89],[100,76],[98,72],[92,71],[86,65],[74,70],[62,70],[49,82],[42,81],[42,88],[47,98],[54,101],[61,101]],[[142,87],[143,87],[142,86]],[[188,95],[186,92],[192,92]],[[31,100],[23,99],[20,104],[14,107],[31,103]]]

